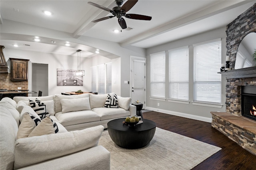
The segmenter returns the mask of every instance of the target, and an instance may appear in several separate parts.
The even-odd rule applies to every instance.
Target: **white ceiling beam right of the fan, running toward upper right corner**
[[[183,16],[181,18],[178,18],[177,20],[171,21],[164,25],[160,25],[158,27],[155,27],[154,29],[145,31],[144,33],[141,33],[140,35],[131,37],[131,38],[127,39],[126,41],[121,42],[120,46],[125,47],[127,45],[132,45],[134,43],[138,43],[145,39],[148,39],[148,38],[154,37],[156,35],[171,31],[173,29],[177,29],[179,27],[188,25],[190,23],[194,23],[196,21],[208,18],[210,16],[220,14],[221,12],[224,12],[226,10],[236,8],[238,6],[241,6],[241,5],[253,2],[253,1],[254,0],[239,0],[239,1],[222,0],[221,2],[217,1],[216,4],[214,4],[208,8],[194,12],[193,14]]]

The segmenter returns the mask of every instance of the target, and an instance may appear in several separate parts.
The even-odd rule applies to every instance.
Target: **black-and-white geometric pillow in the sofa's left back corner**
[[[39,115],[40,119],[50,116],[47,111],[46,105],[36,98],[36,101],[29,100],[29,106]]]

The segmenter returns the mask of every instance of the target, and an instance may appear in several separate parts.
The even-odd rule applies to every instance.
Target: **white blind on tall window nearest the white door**
[[[165,51],[150,54],[150,96],[165,98]]]

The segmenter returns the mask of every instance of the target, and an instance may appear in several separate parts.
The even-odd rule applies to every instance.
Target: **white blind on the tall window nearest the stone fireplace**
[[[194,46],[194,102],[221,103],[221,39]]]

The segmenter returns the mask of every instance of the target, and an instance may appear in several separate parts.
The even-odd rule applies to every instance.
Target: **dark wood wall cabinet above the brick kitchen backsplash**
[[[11,61],[11,81],[28,81],[28,61],[27,59],[14,59]]]

